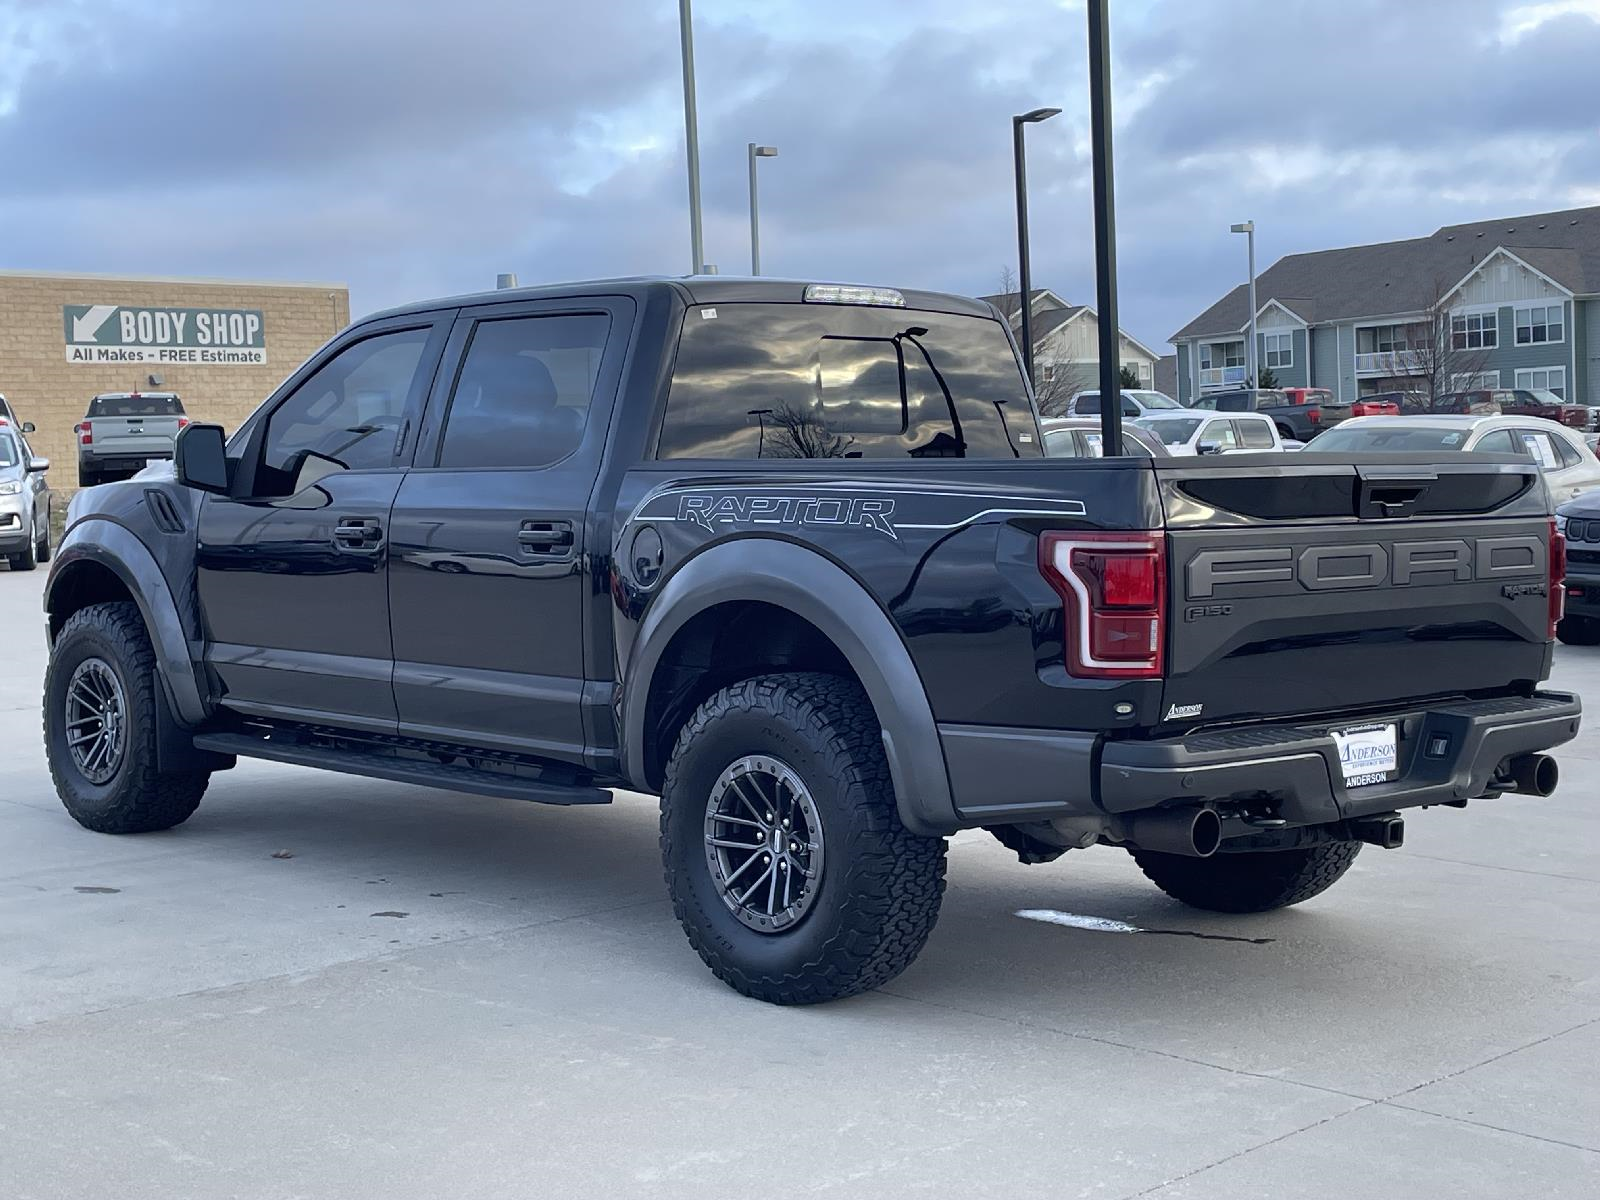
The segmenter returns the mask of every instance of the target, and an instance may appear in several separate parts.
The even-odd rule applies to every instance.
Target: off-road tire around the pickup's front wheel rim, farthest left
[[[86,658],[98,658],[112,669],[128,704],[122,762],[104,784],[83,776],[66,739],[67,685]],[[155,651],[138,605],[90,605],[67,619],[45,672],[45,757],[56,795],[85,829],[149,834],[182,824],[200,806],[210,771],[163,774],[157,770],[155,706],[165,702],[155,678]]]

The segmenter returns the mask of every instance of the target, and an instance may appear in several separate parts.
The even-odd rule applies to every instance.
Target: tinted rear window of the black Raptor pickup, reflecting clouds
[[[1037,458],[998,322],[843,304],[690,309],[659,458]]]

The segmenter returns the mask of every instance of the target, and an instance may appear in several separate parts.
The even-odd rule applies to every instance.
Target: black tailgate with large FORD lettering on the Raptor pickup
[[[1165,725],[1528,694],[1549,674],[1538,469],[1302,453],[1155,459]]]

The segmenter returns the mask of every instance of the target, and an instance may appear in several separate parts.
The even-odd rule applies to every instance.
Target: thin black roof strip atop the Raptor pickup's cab
[[[464,296],[442,296],[414,304],[402,304],[384,312],[363,317],[363,322],[384,317],[400,317],[411,312],[435,312],[438,309],[466,309],[483,304],[512,304],[517,301],[565,299],[570,296],[643,296],[651,291],[675,291],[686,304],[803,304],[805,290],[813,283],[830,280],[789,280],[749,275],[630,275],[624,278],[578,280],[571,283],[547,283],[534,288],[498,288]],[[888,286],[888,285],[845,285]],[[920,291],[894,288],[906,298],[907,309],[928,312],[952,312],[968,317],[994,317],[987,301],[957,296],[949,291]]]

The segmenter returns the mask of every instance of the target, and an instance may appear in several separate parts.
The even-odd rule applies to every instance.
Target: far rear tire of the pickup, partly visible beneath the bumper
[[[1130,850],[1146,877],[1176,901],[1210,912],[1269,912],[1299,904],[1339,882],[1360,853],[1360,842],[1330,842],[1307,850],[1189,858]]]

